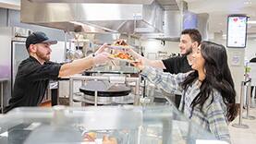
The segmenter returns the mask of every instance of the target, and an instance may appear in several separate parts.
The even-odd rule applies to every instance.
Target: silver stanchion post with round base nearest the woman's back
[[[232,126],[237,128],[249,128],[249,126],[242,124],[242,111],[243,111],[243,103],[244,103],[244,84],[245,82],[241,82],[241,90],[240,90],[240,110],[239,110],[239,122],[238,124],[233,124]]]

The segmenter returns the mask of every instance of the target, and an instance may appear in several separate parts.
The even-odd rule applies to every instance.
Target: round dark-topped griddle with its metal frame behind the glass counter
[[[70,77],[69,105],[73,102],[82,102],[83,105],[138,103],[140,78],[116,75]]]

